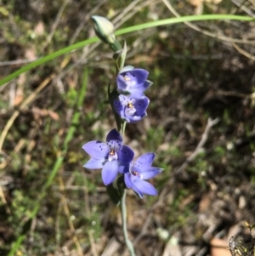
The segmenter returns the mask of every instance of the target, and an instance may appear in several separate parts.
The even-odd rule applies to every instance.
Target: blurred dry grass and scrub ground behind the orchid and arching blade
[[[178,15],[254,17],[255,2],[0,0],[0,79],[94,37],[92,14],[119,28]],[[158,196],[127,196],[136,253],[230,255],[230,237],[249,242],[242,223],[255,222],[255,24],[211,20],[124,38],[126,65],[154,82],[148,117],[127,125],[125,142],[136,156],[156,152],[164,168],[153,180]],[[115,127],[111,57],[94,43],[0,88],[0,255],[128,255],[100,171],[82,168],[82,145]]]

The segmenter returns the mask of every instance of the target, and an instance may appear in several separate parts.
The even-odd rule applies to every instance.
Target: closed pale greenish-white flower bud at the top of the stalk
[[[94,22],[94,31],[96,35],[105,43],[113,44],[116,42],[114,26],[110,20],[104,17],[94,15],[91,17]]]

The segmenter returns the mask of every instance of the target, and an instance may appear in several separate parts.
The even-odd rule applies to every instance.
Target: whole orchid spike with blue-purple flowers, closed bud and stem
[[[144,179],[153,178],[162,169],[151,166],[156,156],[151,152],[133,161],[134,152],[129,146],[122,144],[122,136],[125,134],[126,123],[139,122],[147,116],[146,109],[150,100],[144,95],[144,91],[152,82],[147,80],[148,71],[130,65],[124,66],[126,43],[123,43],[122,48],[116,40],[111,22],[100,16],[92,16],[92,20],[96,35],[115,52],[113,59],[116,60],[116,86],[112,90],[108,86],[108,99],[116,119],[116,128],[107,134],[106,142],[93,140],[82,146],[91,157],[84,167],[102,168],[102,180],[107,192],[111,200],[120,205],[124,240],[130,254],[134,256],[133,243],[127,236],[127,189],[132,189],[140,198],[144,194],[156,196],[155,187]]]

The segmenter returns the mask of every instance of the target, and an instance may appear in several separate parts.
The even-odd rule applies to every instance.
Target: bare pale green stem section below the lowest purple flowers
[[[124,240],[127,245],[127,249],[131,256],[135,256],[133,243],[129,240],[127,235],[127,208],[126,208],[126,195],[127,195],[127,189],[124,189],[121,199],[121,212],[122,212],[122,230],[124,235]]]

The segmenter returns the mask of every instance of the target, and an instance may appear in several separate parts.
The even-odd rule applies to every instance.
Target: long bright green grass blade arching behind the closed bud
[[[139,24],[136,26],[130,26],[127,28],[123,28],[121,30],[116,31],[116,36],[127,34],[133,31],[140,31],[144,30],[150,27],[155,26],[167,26],[171,24],[186,22],[186,21],[201,21],[201,20],[240,20],[240,21],[252,21],[254,20],[252,17],[248,16],[238,16],[238,15],[229,15],[229,14],[207,14],[207,15],[193,15],[193,16],[184,16],[184,17],[178,17],[178,18],[170,18],[166,20],[156,20],[144,24]],[[99,41],[98,37],[93,37],[88,40],[82,41],[80,43],[72,44],[71,46],[68,46],[66,48],[62,48],[59,51],[54,52],[53,54],[48,54],[45,57],[42,57],[39,60],[36,60],[32,62],[29,65],[25,65],[24,67],[21,67],[18,71],[14,71],[12,74],[8,75],[7,77],[4,77],[2,80],[0,80],[0,86],[3,85],[6,82],[11,81],[15,77],[18,77],[20,74],[30,71],[31,69],[37,67],[38,65],[42,65],[49,60],[54,60],[55,58],[63,55],[68,54],[73,50],[76,50],[78,48],[82,48],[86,45],[89,45],[91,43],[96,43]]]

